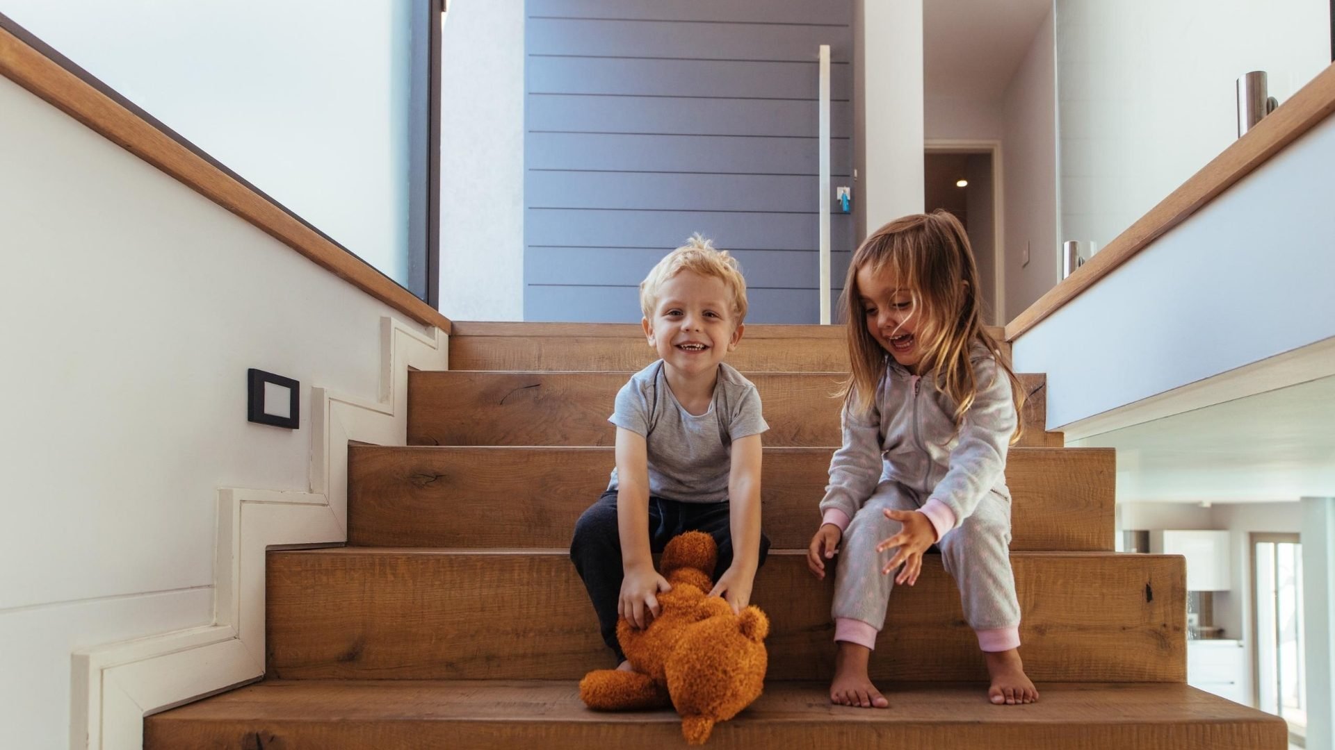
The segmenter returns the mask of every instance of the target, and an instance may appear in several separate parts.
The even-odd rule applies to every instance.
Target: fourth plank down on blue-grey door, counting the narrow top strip
[[[830,135],[848,137],[853,105],[830,104]],[[659,96],[527,97],[531,131],[674,135],[810,135],[817,103],[792,99],[684,99]]]

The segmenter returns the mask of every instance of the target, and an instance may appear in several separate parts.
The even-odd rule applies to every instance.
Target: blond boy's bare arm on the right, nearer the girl
[[[756,570],[760,567],[760,435],[734,440],[732,471],[728,476],[733,565],[718,579],[710,595],[722,595],[733,611],[738,613],[750,603]]]

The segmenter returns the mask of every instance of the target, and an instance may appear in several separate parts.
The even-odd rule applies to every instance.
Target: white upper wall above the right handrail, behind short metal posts
[[[1057,0],[1061,239],[1108,244],[1238,137],[1235,80],[1280,103],[1331,61],[1328,0]]]

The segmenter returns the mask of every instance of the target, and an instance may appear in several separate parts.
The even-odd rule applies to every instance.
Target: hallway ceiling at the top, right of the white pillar
[[[1000,99],[1052,0],[924,0],[926,96]]]

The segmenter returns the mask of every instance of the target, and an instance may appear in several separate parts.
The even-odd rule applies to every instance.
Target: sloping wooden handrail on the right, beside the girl
[[[1013,342],[1056,312],[1332,112],[1335,112],[1335,64],[1327,67],[1288,101],[1262,119],[1247,131],[1247,135],[1235,140],[1223,153],[1117,235],[1117,239],[1076,268],[1075,274],[1048,290],[1039,302],[1011,320],[1005,327],[1005,339]]]

